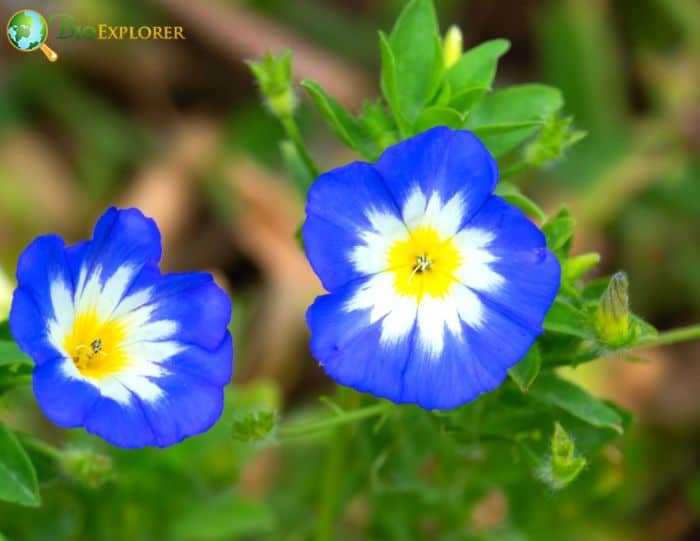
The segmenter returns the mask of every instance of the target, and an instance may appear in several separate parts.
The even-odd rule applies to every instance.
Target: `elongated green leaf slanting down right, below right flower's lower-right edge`
[[[591,426],[610,428],[620,434],[624,430],[622,417],[617,411],[575,383],[560,378],[553,372],[540,374],[530,388],[529,395]]]

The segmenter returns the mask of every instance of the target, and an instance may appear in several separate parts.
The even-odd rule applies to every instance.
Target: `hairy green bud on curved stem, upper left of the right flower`
[[[279,56],[267,52],[260,62],[248,62],[248,66],[270,112],[279,118],[291,116],[297,105],[292,87],[292,52],[286,50]]]

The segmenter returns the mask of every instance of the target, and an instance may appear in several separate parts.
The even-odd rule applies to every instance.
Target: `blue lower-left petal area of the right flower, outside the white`
[[[344,310],[358,287],[350,284],[318,297],[309,307],[311,353],[338,383],[399,402],[413,332],[392,345],[381,344],[381,320],[370,324],[368,311]]]

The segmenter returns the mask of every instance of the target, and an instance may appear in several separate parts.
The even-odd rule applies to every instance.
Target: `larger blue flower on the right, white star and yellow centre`
[[[434,128],[316,180],[303,236],[330,294],[307,322],[331,377],[428,409],[503,382],[561,273],[537,227],[493,195],[497,179],[472,133]]]

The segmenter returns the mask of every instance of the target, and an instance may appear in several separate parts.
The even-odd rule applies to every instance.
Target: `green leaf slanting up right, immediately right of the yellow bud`
[[[491,89],[498,59],[510,48],[505,39],[487,41],[464,53],[446,74],[452,90],[450,104],[468,112]]]

